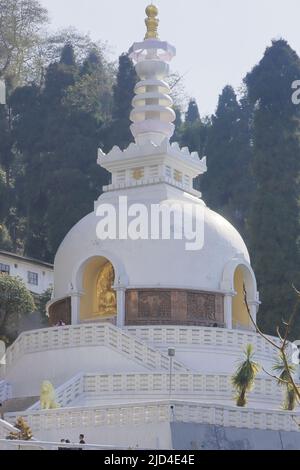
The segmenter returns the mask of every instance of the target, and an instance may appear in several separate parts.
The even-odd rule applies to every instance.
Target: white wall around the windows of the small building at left
[[[0,263],[9,265],[10,275],[20,277],[27,289],[34,294],[42,294],[50,286],[53,286],[53,269],[44,264],[32,263],[25,258],[14,258],[0,252]],[[28,271],[38,274],[38,285],[28,283]]]

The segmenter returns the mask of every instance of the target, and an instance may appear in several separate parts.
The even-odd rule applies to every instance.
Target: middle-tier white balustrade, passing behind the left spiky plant
[[[56,390],[56,401],[62,408],[89,403],[89,400],[113,400],[115,397],[128,399],[169,395],[170,377],[168,374],[80,374]],[[230,375],[174,374],[172,377],[172,397],[209,400],[210,402],[232,401],[234,390]],[[271,378],[257,378],[255,387],[249,394],[251,402],[264,404],[265,408],[279,408],[282,402],[282,389]],[[39,410],[36,403],[28,411]]]

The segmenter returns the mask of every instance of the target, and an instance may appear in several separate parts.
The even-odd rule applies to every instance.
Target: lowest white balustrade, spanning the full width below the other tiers
[[[7,413],[6,419],[14,423],[17,415]],[[193,403],[179,400],[147,402],[140,405],[64,408],[49,411],[18,413],[34,434],[49,430],[80,429],[86,427],[125,426],[147,423],[184,422],[224,427],[298,431],[299,412],[257,410],[212,403]]]

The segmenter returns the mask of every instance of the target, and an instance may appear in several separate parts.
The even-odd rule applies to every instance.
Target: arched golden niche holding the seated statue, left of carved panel
[[[86,262],[82,270],[80,322],[117,316],[115,278],[115,268],[107,258],[98,256]]]

